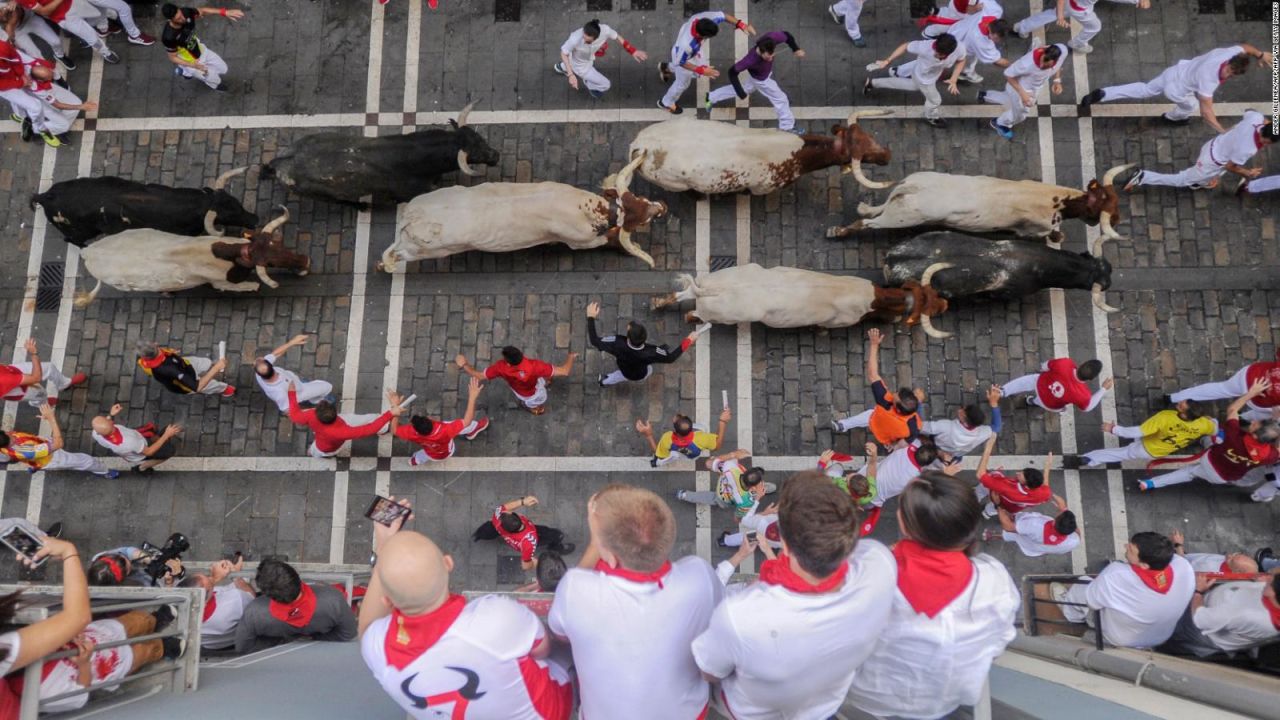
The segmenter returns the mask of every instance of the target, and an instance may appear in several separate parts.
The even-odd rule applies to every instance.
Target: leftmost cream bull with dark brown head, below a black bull
[[[201,237],[179,237],[154,229],[124,231],[88,246],[81,259],[84,269],[97,278],[92,291],[77,296],[76,306],[92,302],[104,284],[124,292],[173,292],[210,284],[230,292],[253,292],[261,287],[250,279],[255,273],[268,287],[279,287],[266,274],[269,268],[293,270],[300,275],[311,269],[311,259],[284,249],[280,227],[289,211],[261,231],[242,237],[225,237],[215,214],[205,215]]]

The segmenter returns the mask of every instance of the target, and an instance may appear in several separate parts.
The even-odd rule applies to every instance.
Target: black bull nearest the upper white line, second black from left
[[[262,177],[321,200],[360,204],[370,195],[375,201],[407,202],[431,191],[445,173],[480,176],[472,163],[498,164],[498,151],[467,126],[472,105],[462,109],[457,122],[449,120],[448,128],[385,137],[308,135],[268,163]]]

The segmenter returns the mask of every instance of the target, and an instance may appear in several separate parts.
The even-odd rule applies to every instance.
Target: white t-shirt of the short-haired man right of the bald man
[[[708,685],[690,644],[724,594],[701,557],[682,557],[658,583],[575,568],[556,588],[547,624],[568,638],[581,716],[694,720]]]

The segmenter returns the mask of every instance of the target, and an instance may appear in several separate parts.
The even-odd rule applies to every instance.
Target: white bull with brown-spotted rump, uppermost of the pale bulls
[[[832,126],[827,135],[792,135],[769,128],[749,128],[718,120],[676,118],[652,124],[631,142],[630,158],[644,158],[640,177],[672,192],[704,195],[751,191],[767,195],[806,173],[844,165],[870,188],[863,163],[887,165],[890,151],[881,147],[858,118],[887,115],[888,110],[859,110],[847,126]]]

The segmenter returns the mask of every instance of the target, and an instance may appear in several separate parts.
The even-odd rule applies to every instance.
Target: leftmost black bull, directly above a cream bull
[[[256,228],[257,214],[227,192],[227,182],[248,168],[236,168],[218,176],[214,187],[168,187],[124,178],[77,178],[54,183],[31,196],[49,223],[61,231],[67,242],[84,247],[101,234],[151,228],[173,234],[197,236],[205,232],[205,215],[215,213],[220,222],[238,228]]]

